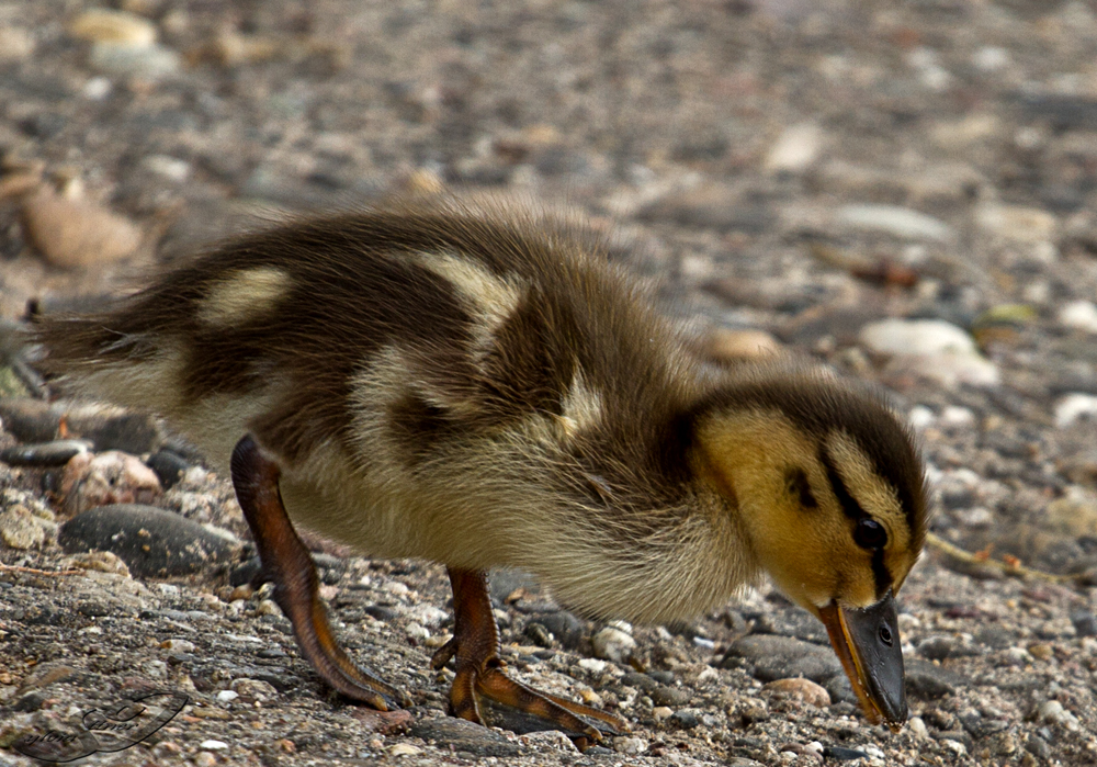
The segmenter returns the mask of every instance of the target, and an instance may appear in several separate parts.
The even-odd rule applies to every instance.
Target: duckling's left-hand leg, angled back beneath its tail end
[[[403,692],[359,668],[336,643],[320,601],[320,580],[282,504],[278,464],[250,437],[233,450],[233,486],[259,549],[262,569],[253,584],[274,583],[274,601],[293,625],[302,655],[332,688],[381,711],[407,704]]]

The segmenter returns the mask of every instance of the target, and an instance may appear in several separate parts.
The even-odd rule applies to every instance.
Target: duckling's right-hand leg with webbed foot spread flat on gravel
[[[450,688],[454,717],[483,724],[479,697],[484,696],[552,723],[575,738],[580,748],[600,741],[601,733],[576,714],[609,724],[612,732],[627,732],[627,723],[613,714],[538,692],[508,677],[502,670],[506,663],[499,657],[499,631],[491,613],[487,574],[454,567],[448,572],[453,586],[453,639],[434,653],[430,665],[441,668],[456,657],[457,673]]]

